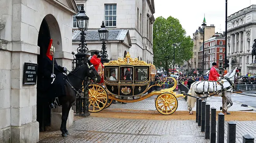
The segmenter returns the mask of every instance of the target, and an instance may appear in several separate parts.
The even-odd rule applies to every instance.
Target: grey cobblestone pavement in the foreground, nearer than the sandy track
[[[238,121],[236,138],[256,137],[256,121]],[[134,120],[87,117],[74,122],[71,135],[60,131],[41,132],[39,143],[209,143],[195,121]],[[227,140],[227,122],[225,123]]]

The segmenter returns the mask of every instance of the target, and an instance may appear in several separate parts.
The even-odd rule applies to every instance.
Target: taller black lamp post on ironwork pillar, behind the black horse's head
[[[87,44],[85,43],[85,31],[88,29],[89,17],[86,16],[84,6],[81,5],[81,9],[76,15],[76,21],[78,23],[78,29],[81,31],[81,39],[79,43],[79,47],[77,48],[77,54],[75,54],[76,58],[74,59],[76,63],[76,67],[79,67],[88,62],[88,58],[90,57],[88,53]],[[90,116],[90,112],[88,111],[88,78],[86,78],[83,82],[82,92],[79,97],[76,97],[76,116]],[[87,85],[87,86],[84,86]],[[83,103],[83,104],[82,104]],[[83,111],[83,114],[82,114]],[[79,114],[78,114],[79,113]]]

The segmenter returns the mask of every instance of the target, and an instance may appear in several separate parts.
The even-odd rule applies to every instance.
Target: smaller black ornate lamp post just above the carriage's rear
[[[108,63],[109,60],[107,59],[109,55],[107,54],[106,51],[106,42],[108,37],[109,37],[109,31],[106,29],[106,26],[104,25],[104,21],[102,21],[102,25],[100,26],[100,29],[98,30],[100,40],[102,41],[102,50],[100,51],[100,56],[101,56],[101,62],[102,63]]]

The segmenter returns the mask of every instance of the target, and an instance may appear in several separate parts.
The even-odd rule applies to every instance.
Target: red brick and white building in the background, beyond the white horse
[[[199,70],[202,71],[204,65],[204,72],[207,72],[213,62],[217,63],[216,70],[218,73],[223,72],[224,59],[225,59],[225,36],[223,34],[216,33],[208,40],[204,41],[204,63],[203,63],[203,46],[201,46],[198,52]]]

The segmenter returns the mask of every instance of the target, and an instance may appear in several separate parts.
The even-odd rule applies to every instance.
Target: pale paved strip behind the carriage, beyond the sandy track
[[[127,104],[111,104],[109,108],[122,108],[122,109],[135,109],[135,110],[156,110],[155,107],[155,98],[157,95],[153,95],[147,99],[144,99],[139,102],[132,102]],[[215,107],[217,111],[220,110],[222,106],[221,97],[210,97],[207,99],[207,103],[211,105],[211,107]],[[195,111],[195,108],[193,108]],[[178,100],[178,109],[177,111],[188,111],[187,103],[184,99]],[[233,105],[228,109],[228,111],[253,111],[250,107],[242,107],[241,104],[237,102],[233,102]]]

